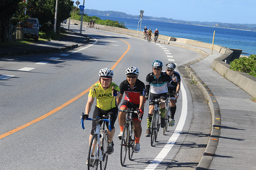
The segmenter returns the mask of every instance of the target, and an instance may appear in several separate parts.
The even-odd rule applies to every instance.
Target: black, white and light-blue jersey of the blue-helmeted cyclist
[[[151,89],[150,93],[167,93],[166,83],[171,81],[173,80],[166,73],[161,72],[161,75],[158,79],[155,77],[153,72],[149,73],[146,77],[146,96],[149,94],[149,88]]]

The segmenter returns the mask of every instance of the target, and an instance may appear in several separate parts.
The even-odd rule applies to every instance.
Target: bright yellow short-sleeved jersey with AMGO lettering
[[[116,99],[112,96],[112,87],[114,90],[120,91],[115,83],[111,83],[107,90],[103,89],[100,83],[94,84],[90,89],[88,96],[97,99],[96,106],[102,110],[109,110],[117,106]]]

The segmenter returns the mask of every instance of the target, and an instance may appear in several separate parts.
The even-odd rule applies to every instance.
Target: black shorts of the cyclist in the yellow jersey
[[[109,117],[109,115],[111,115],[111,129],[114,129],[114,124],[115,124],[115,121],[116,121],[116,118],[117,118],[117,115],[118,115],[118,108],[115,107],[115,108],[112,108],[112,109],[109,109],[107,111],[105,110],[102,110],[100,108],[98,108],[97,106],[95,106],[95,109],[94,109],[94,112],[93,112],[93,118],[97,118],[97,117],[101,117],[103,118],[103,115],[107,116],[107,119]],[[102,122],[101,122],[102,124]],[[107,126],[107,129],[108,128],[108,122],[106,121],[106,126]],[[96,130],[96,121],[93,120],[92,121],[92,131],[91,131],[91,135],[94,134],[94,131]]]

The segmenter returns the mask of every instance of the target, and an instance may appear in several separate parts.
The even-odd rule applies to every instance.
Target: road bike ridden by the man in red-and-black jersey
[[[119,112],[125,112],[125,124],[123,127],[123,135],[121,140],[121,154],[120,160],[121,165],[124,166],[124,162],[126,160],[127,150],[129,155],[129,160],[132,161],[133,158],[133,149],[135,146],[135,135],[133,134],[133,116],[132,113],[137,113],[137,111],[133,111],[133,109],[127,110],[119,110]],[[139,120],[141,118],[138,115]]]

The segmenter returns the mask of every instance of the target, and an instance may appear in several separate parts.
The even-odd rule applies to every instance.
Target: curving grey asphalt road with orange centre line
[[[78,31],[79,26],[70,29]],[[0,134],[10,133],[0,139],[1,169],[85,169],[91,122],[85,122],[82,130],[80,114],[101,68],[112,68],[113,82],[120,84],[126,79],[125,69],[135,66],[139,79],[145,82],[151,63],[158,59],[164,65],[175,62],[180,66],[176,70],[187,77],[182,65],[201,56],[188,49],[102,30],[84,28],[83,34],[90,36],[90,43],[65,53],[0,60],[1,74],[12,76],[1,81],[0,89]],[[126,167],[120,164],[116,121],[115,151],[109,156],[107,169],[196,168],[209,139],[211,121],[205,99],[190,81],[189,77],[182,79],[175,126],[166,135],[161,128],[154,147],[144,136],[146,103],[141,150],[133,161],[127,159]]]

